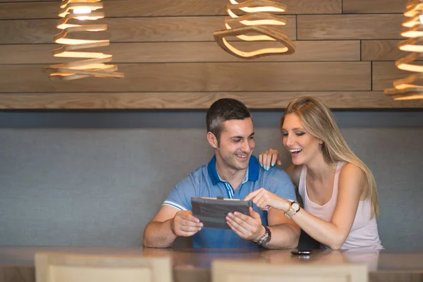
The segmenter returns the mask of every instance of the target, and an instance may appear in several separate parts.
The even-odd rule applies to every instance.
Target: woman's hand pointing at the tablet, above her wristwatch
[[[283,212],[288,212],[290,201],[279,197],[278,195],[269,192],[264,188],[255,190],[247,195],[244,199],[245,201],[252,200],[253,203],[257,205],[260,209],[269,210],[271,207],[274,209],[281,209]]]

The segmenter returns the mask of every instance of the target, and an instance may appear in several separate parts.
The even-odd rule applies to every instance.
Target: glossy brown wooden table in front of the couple
[[[290,250],[247,249],[152,249],[142,247],[1,247],[0,282],[35,282],[36,252],[70,252],[94,255],[170,256],[175,281],[211,281],[214,259],[237,259],[269,264],[348,264],[364,263],[372,282],[423,282],[423,252],[374,250],[323,251],[294,256]]]

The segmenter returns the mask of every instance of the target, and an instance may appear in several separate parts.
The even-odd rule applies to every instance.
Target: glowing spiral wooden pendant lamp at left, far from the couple
[[[86,39],[91,32],[102,32],[107,29],[104,24],[87,24],[87,21],[104,18],[101,0],[62,0],[57,28],[61,30],[54,36],[54,42],[61,44],[53,50],[53,56],[60,58],[75,58],[78,61],[52,65],[47,68],[51,80],[74,80],[90,76],[101,78],[123,78],[123,73],[117,73],[117,66],[106,64],[111,61],[111,54],[98,51],[80,51],[110,44],[108,39]],[[80,33],[78,33],[80,32]],[[84,32],[84,33],[82,33]],[[75,39],[78,35],[81,39]]]

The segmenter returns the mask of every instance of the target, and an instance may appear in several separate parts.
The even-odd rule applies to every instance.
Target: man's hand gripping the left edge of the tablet
[[[201,230],[203,223],[190,211],[180,211],[171,221],[171,230],[177,236],[190,237]]]

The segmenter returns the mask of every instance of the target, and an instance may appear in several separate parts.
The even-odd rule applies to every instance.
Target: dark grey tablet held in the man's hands
[[[192,215],[200,219],[204,227],[229,228],[226,215],[229,212],[240,212],[250,215],[250,202],[238,199],[192,197]]]

